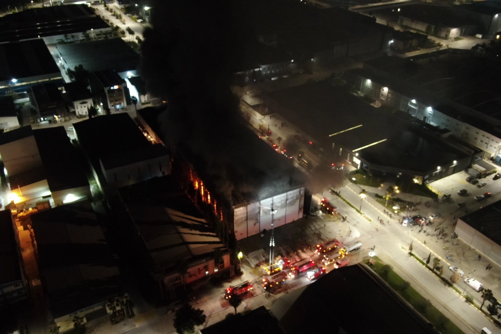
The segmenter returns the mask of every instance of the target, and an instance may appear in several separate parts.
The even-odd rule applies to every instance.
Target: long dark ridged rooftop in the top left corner
[[[86,5],[33,8],[0,18],[0,43],[108,27]]]

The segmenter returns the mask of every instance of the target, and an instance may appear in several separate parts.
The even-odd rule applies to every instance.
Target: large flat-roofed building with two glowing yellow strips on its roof
[[[403,175],[422,184],[462,171],[471,163],[469,153],[327,82],[269,96],[272,112],[327,144],[333,159],[348,160],[370,175]]]

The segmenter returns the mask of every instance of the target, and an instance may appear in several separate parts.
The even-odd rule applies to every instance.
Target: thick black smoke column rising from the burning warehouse
[[[152,95],[168,101],[161,120],[166,139],[192,160],[203,161],[204,174],[230,204],[235,193],[262,192],[256,184],[280,179],[281,172],[280,166],[264,172],[259,152],[242,149],[248,136],[241,133],[239,101],[230,90],[252,38],[242,4],[159,0],[141,46],[141,77]]]

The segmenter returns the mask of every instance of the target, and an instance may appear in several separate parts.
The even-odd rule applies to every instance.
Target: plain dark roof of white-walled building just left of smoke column
[[[125,155],[152,145],[126,112],[93,117],[73,126],[80,145],[97,172],[101,171],[100,158]]]

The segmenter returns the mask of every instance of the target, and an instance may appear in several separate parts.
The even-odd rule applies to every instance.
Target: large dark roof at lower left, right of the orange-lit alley
[[[89,201],[31,216],[54,318],[123,293],[120,273]]]

